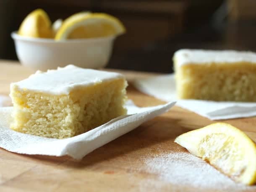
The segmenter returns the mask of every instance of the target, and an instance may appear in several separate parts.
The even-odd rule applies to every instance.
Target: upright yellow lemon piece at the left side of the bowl
[[[29,13],[21,23],[18,34],[37,38],[53,38],[51,21],[42,9],[36,9]]]

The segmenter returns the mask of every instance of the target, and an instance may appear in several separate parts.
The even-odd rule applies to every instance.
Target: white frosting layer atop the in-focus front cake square
[[[37,91],[54,95],[69,94],[73,89],[91,86],[103,81],[124,78],[123,75],[93,69],[84,69],[74,65],[47,72],[37,71],[24,80],[11,83],[19,90]]]

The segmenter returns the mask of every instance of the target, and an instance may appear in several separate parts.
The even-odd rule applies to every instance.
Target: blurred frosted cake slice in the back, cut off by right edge
[[[180,49],[174,69],[179,99],[256,101],[256,54]]]

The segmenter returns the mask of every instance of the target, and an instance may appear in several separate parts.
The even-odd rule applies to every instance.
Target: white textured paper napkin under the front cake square
[[[71,156],[81,159],[91,151],[105,145],[119,136],[135,129],[143,122],[167,112],[175,102],[140,108],[128,101],[128,115],[112,119],[110,122],[81,135],[67,139],[53,139],[23,134],[9,128],[13,107],[0,108],[0,147],[22,154],[49,156]]]

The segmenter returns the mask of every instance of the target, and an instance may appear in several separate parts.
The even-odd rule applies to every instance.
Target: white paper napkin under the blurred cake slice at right
[[[137,79],[133,82],[133,85],[139,91],[163,101],[177,101],[173,74]],[[212,120],[256,115],[256,103],[178,100],[176,105]]]

